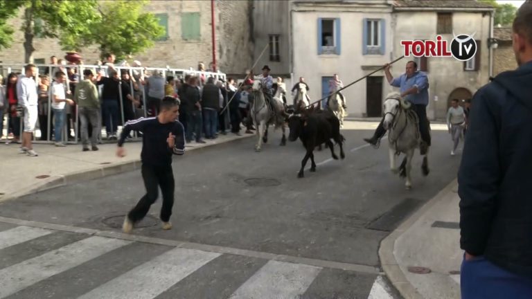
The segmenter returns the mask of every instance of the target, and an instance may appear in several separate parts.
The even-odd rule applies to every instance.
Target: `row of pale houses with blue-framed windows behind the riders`
[[[254,55],[258,57],[261,45],[272,38],[278,41],[274,54],[278,54],[279,61],[269,59],[272,55],[266,53],[263,62],[270,64],[272,73],[290,73],[292,80],[305,77],[312,100],[328,94],[328,80],[335,73],[348,84],[403,55],[400,44],[403,39],[427,40],[441,35],[450,42],[453,31],[475,33],[479,49],[476,57],[467,63],[452,57],[405,57],[393,66],[392,74],[404,73],[408,60],[415,60],[419,69],[427,72],[430,85],[427,114],[431,119],[445,118],[451,98],[470,98],[488,82],[493,60],[488,38],[492,36],[494,9],[486,3],[475,0],[278,2],[254,1],[254,20],[258,23],[254,23],[257,38]],[[281,21],[283,16],[287,21]],[[381,116],[382,102],[389,91],[391,87],[383,71],[342,91],[349,116]]]

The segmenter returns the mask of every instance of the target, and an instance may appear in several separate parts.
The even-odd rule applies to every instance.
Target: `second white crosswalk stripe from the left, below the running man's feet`
[[[89,237],[0,270],[0,298],[16,293],[62,271],[94,259],[129,241]]]

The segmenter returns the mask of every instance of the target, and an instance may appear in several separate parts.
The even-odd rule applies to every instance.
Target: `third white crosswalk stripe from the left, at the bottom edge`
[[[150,253],[147,253],[150,254]],[[132,271],[80,296],[78,299],[150,299],[220,256],[193,249],[175,248],[137,266]]]

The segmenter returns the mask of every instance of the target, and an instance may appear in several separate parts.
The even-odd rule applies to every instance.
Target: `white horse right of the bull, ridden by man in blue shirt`
[[[420,145],[420,132],[418,116],[414,110],[410,109],[411,104],[401,98],[400,93],[389,93],[384,101],[384,129],[388,130],[390,170],[393,173],[400,173],[401,177],[406,176],[405,187],[412,187],[410,170],[412,167],[412,157],[414,149]],[[396,156],[405,154],[399,169],[396,168]],[[428,150],[423,156],[421,170],[423,175],[429,174]]]

